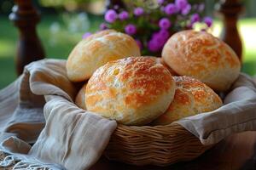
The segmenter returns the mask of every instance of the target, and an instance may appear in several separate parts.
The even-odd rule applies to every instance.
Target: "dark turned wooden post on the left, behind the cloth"
[[[9,19],[14,21],[20,32],[15,59],[16,71],[20,75],[25,65],[44,59],[44,49],[36,31],[40,16],[36,8],[32,6],[31,0],[15,0]]]

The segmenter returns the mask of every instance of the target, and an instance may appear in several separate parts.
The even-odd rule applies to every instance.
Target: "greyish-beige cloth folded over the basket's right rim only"
[[[233,123],[230,123],[230,119]],[[210,121],[204,122],[205,120]],[[232,85],[230,94],[224,99],[222,107],[216,111],[185,117],[175,123],[194,134],[204,145],[216,144],[232,133],[256,130],[256,82],[252,77],[241,73]],[[215,130],[209,131],[207,127]]]

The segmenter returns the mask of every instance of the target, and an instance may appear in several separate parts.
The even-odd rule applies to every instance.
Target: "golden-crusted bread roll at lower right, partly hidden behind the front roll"
[[[214,111],[223,105],[212,88],[192,77],[173,77],[177,90],[165,114],[159,116],[154,125],[166,125],[186,116]]]

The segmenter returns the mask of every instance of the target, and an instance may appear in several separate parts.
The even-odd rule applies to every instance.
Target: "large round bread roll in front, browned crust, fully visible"
[[[126,125],[144,125],[163,114],[175,82],[165,66],[150,57],[130,57],[97,69],[86,87],[88,111]]]

